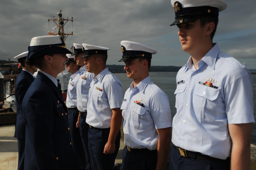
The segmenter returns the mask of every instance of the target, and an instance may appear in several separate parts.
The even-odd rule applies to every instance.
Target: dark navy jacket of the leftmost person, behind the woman
[[[17,117],[15,123],[15,132],[14,137],[18,139],[25,139],[25,122],[22,115],[22,110],[20,109],[20,105],[22,104],[22,100],[31,85],[34,81],[34,77],[27,71],[22,70],[18,75],[15,82],[15,99],[17,105]]]

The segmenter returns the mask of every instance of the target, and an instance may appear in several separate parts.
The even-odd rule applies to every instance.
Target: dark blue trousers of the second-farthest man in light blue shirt
[[[80,130],[81,140],[83,143],[83,149],[85,153],[85,163],[86,163],[85,169],[91,170],[91,160],[90,160],[90,154],[88,150],[89,124],[86,123],[86,116],[87,115],[80,115],[79,130]]]

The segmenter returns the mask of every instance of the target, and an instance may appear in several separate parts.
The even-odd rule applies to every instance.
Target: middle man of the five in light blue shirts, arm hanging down
[[[94,74],[86,118],[92,169],[113,170],[121,138],[123,88],[106,67],[109,48],[82,45],[87,71]]]

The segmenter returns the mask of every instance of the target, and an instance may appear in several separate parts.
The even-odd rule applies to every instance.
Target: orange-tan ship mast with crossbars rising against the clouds
[[[72,21],[72,24],[73,24],[73,17],[71,19],[65,19],[65,18],[62,18],[62,13],[61,13],[61,9],[60,9],[60,12],[57,13],[59,18],[54,18],[53,16],[53,19],[48,19],[48,22],[50,20],[54,21],[55,24],[57,25],[56,27],[59,29],[57,33],[53,33],[54,30],[52,30],[52,32],[49,32],[48,35],[60,35],[63,37],[64,41],[66,40],[66,38],[68,37],[68,35],[73,35],[73,31],[72,33],[64,33],[64,25],[68,22],[68,21]]]

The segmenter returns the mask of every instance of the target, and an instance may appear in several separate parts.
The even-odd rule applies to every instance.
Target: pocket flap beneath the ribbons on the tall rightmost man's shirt
[[[196,85],[195,94],[201,97],[204,97],[208,100],[214,101],[219,95],[219,90],[208,87],[205,85],[198,84]]]

